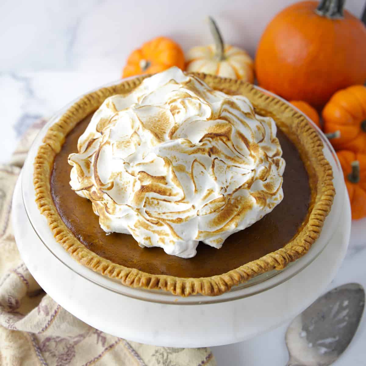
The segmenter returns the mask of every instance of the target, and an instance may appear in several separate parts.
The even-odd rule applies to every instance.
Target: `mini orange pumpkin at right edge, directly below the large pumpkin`
[[[366,61],[365,61],[366,62]],[[366,153],[366,87],[353,85],[337,91],[322,111],[324,132],[340,131],[330,142],[336,150]]]

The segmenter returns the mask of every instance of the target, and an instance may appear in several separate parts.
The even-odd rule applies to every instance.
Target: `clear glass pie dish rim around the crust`
[[[116,85],[119,82],[120,81],[111,83],[108,86]],[[276,97],[265,90],[261,89],[261,91],[270,96]],[[102,276],[97,272],[93,272],[92,270],[82,266],[74,259],[72,259],[70,254],[68,254],[63,249],[63,247],[59,243],[57,243],[56,240],[53,238],[53,234],[49,229],[46,219],[40,214],[34,199],[35,197],[35,191],[33,186],[34,157],[36,156],[38,147],[42,143],[42,138],[44,137],[45,132],[53,123],[55,123],[60,118],[61,115],[63,115],[63,113],[68,109],[70,105],[67,105],[66,107],[61,109],[61,111],[56,113],[56,115],[53,116],[51,120],[49,120],[49,122],[42,128],[42,130],[38,134],[37,138],[35,139],[29,151],[22,172],[21,187],[22,187],[23,203],[25,205],[27,216],[29,217],[29,221],[32,227],[34,228],[34,231],[41,239],[42,243],[47,247],[47,249],[50,250],[51,253],[55,255],[55,257],[59,261],[61,261],[64,265],[66,265],[74,272],[78,273],[78,275],[81,275],[85,279],[90,280],[93,283],[100,285],[108,290],[117,292],[121,295],[130,296],[132,298],[137,298],[141,300],[153,301],[158,303],[179,304],[179,305],[217,303],[217,302],[240,299],[254,294],[258,294],[259,292],[273,288],[283,283],[284,281],[292,278],[301,270],[306,268],[312,261],[314,261],[314,259],[317,258],[317,256],[324,250],[324,248],[328,244],[330,236],[334,232],[334,229],[340,220],[340,212],[342,210],[342,205],[344,204],[344,193],[345,193],[343,175],[336,154],[332,149],[332,147],[330,146],[328,140],[322,134],[322,132],[318,130],[317,127],[314,127],[320,134],[320,137],[324,143],[325,157],[328,159],[328,161],[333,167],[333,174],[334,174],[333,184],[336,189],[336,196],[333,202],[332,209],[328,217],[326,218],[324,228],[322,229],[320,237],[313,244],[313,246],[306,255],[299,258],[297,261],[289,264],[283,270],[280,271],[272,270],[262,275],[258,275],[243,284],[233,287],[231,291],[215,297],[196,295],[196,296],[190,296],[188,298],[177,298],[177,296],[163,291],[143,290],[138,288],[126,287],[123,284],[121,284],[118,280],[113,280],[108,277]]]

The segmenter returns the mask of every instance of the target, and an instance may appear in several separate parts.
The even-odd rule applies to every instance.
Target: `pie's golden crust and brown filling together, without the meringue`
[[[141,248],[132,235],[107,235],[101,228],[89,199],[71,189],[68,157],[78,151],[79,137],[106,99],[128,97],[145,76],[93,91],[68,108],[38,148],[33,184],[37,206],[56,242],[82,265],[130,287],[216,296],[261,273],[283,269],[307,253],[332,206],[333,172],[317,132],[287,103],[242,81],[186,75],[213,90],[247,97],[257,116],[272,117],[276,123],[286,161],[281,172],[284,198],[261,220],[230,235],[220,249],[199,242],[197,255],[188,259],[158,246]]]

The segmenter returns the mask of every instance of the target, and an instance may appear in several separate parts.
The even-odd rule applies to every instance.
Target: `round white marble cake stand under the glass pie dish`
[[[112,335],[158,346],[235,343],[290,320],[333,279],[350,236],[350,206],[345,194],[339,224],[329,244],[311,264],[284,283],[246,298],[213,304],[149,302],[93,283],[55,257],[30,224],[20,180],[21,177],[13,198],[13,227],[20,255],[36,281],[57,303],[87,324]],[[39,220],[43,220],[41,215]]]

